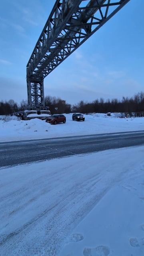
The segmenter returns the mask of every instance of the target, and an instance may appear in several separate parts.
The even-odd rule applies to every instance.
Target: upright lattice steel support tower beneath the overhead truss
[[[44,81],[27,81],[28,106],[44,106]]]

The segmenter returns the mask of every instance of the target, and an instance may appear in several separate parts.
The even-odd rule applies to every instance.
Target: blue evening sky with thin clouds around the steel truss
[[[26,64],[55,0],[1,0],[0,100],[27,99]],[[68,103],[144,91],[144,0],[130,0],[44,80]]]

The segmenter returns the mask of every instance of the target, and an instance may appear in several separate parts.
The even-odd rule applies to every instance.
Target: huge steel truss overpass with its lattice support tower
[[[130,0],[56,0],[26,66],[28,106],[44,106],[44,78]]]

